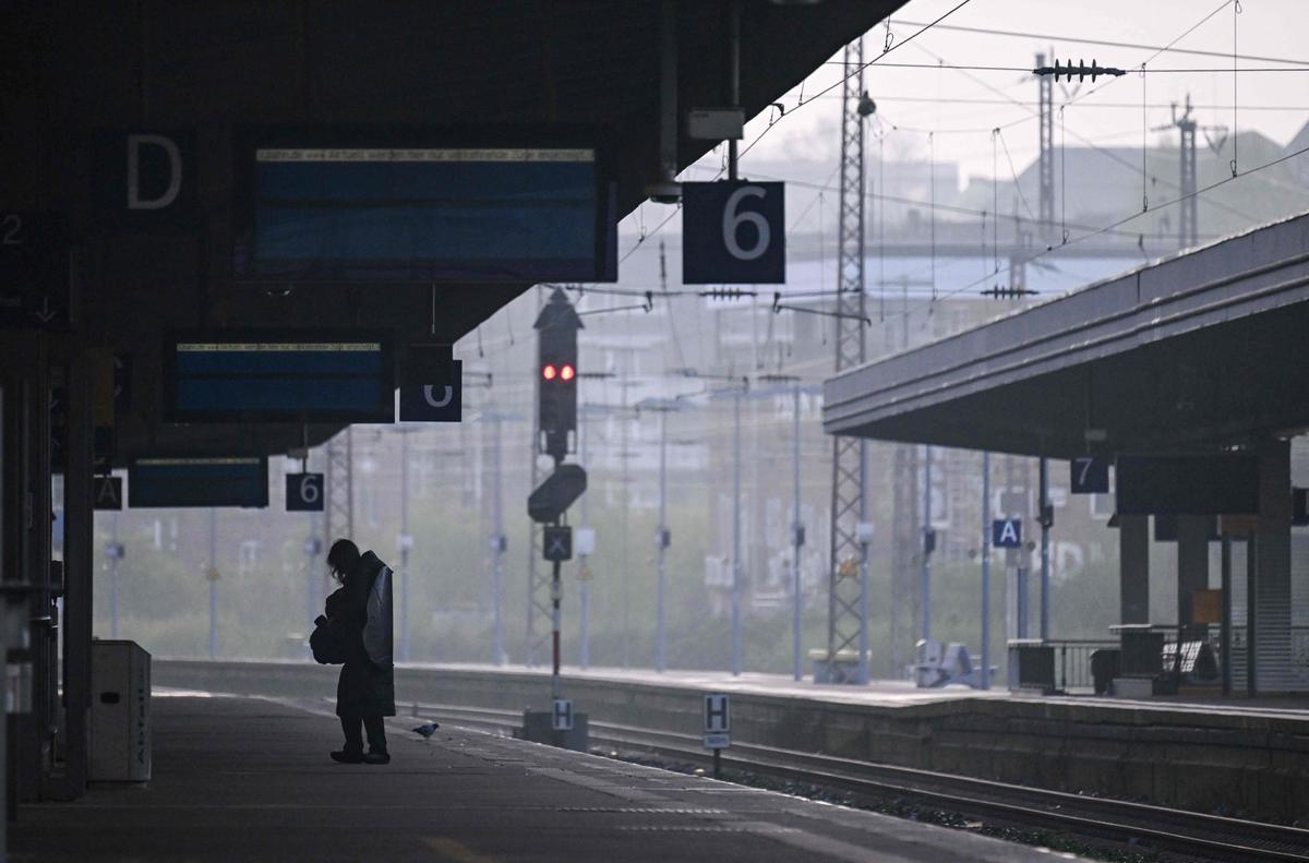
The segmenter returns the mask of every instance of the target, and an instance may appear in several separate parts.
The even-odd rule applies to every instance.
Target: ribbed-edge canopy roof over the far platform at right
[[[1309,428],[1309,215],[833,377],[834,435],[1073,457]]]

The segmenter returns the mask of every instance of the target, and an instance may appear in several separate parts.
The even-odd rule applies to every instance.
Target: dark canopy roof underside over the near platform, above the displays
[[[740,0],[741,102],[764,110],[903,0]],[[76,346],[131,351],[119,461],[168,447],[284,452],[292,426],[174,427],[158,414],[160,334],[183,327],[368,327],[454,342],[524,283],[314,284],[232,278],[233,134],[241,124],[602,127],[618,215],[657,175],[660,16],[645,0],[326,0],[9,4],[0,28],[7,210],[68,219],[85,278]],[[728,103],[728,0],[673,0],[678,103]],[[833,110],[836,110],[833,107]],[[202,220],[183,236],[94,229],[98,130],[191,130]],[[677,164],[713,145],[681,135]],[[334,433],[310,430],[312,441]]]

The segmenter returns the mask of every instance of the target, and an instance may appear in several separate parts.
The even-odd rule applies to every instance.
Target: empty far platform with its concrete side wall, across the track
[[[547,669],[397,667],[397,703],[467,707],[507,723],[548,710]],[[322,698],[336,669],[309,661],[158,660],[158,685]],[[1309,698],[1185,693],[1143,699],[908,682],[814,685],[768,674],[565,668],[563,695],[593,727],[673,735],[704,729],[708,691],[732,697],[733,743],[996,779],[1039,788],[1240,812],[1287,824],[1309,812]],[[457,711],[452,710],[452,715]]]

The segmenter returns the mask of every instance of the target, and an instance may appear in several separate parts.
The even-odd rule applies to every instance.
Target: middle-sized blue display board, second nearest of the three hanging
[[[389,423],[394,393],[391,347],[380,334],[194,333],[164,344],[170,422]]]

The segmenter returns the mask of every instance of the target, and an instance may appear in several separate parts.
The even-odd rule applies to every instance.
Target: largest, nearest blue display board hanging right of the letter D
[[[594,132],[246,127],[237,278],[613,282],[617,186]]]

